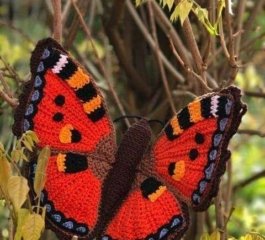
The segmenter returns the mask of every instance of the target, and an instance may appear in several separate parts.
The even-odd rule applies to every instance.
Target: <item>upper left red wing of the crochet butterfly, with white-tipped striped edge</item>
[[[32,80],[20,98],[14,133],[34,130],[40,146],[92,152],[113,140],[103,97],[90,75],[52,39],[42,40],[31,58]]]

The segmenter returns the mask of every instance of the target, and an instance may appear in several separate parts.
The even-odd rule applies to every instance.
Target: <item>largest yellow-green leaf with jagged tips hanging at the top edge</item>
[[[182,0],[174,9],[173,13],[170,16],[170,20],[173,22],[177,18],[180,19],[181,24],[188,17],[193,6],[193,2],[189,0]]]

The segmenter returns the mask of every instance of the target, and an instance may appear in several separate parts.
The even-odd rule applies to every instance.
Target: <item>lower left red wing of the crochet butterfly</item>
[[[68,165],[60,169],[59,160],[62,154],[49,159],[45,190],[41,195],[41,203],[46,206],[48,227],[55,230],[63,239],[71,239],[73,235],[86,236],[94,227],[98,218],[98,206],[101,197],[102,181],[93,173],[92,168],[84,166],[89,162],[86,156],[64,154]],[[73,164],[79,163],[84,168],[74,172]],[[71,166],[72,165],[72,166]],[[30,182],[34,181],[36,162],[30,166]],[[72,172],[71,172],[72,170]],[[72,174],[69,174],[69,173]]]

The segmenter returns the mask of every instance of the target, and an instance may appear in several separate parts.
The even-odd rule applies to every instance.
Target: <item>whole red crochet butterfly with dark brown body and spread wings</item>
[[[228,142],[246,112],[240,90],[189,103],[152,144],[141,120],[117,146],[92,77],[56,41],[37,44],[31,74],[13,131],[33,130],[39,147],[51,147],[41,194],[46,226],[60,239],[180,239],[189,225],[187,206],[205,210],[217,194]],[[31,185],[35,168],[32,157]]]

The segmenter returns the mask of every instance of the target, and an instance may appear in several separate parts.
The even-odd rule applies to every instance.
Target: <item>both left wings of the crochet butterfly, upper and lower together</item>
[[[103,96],[89,75],[55,40],[38,42],[31,81],[19,98],[14,134],[33,130],[51,157],[41,203],[47,227],[61,239],[87,239],[98,219],[103,181],[114,162],[114,128]],[[34,203],[36,162],[28,179]]]

